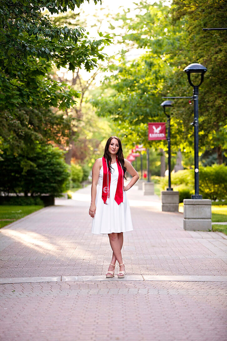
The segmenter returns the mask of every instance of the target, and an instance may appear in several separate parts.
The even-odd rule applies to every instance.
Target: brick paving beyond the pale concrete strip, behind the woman
[[[130,195],[137,197],[135,191]],[[106,273],[111,260],[108,236],[91,234],[89,202],[59,203],[64,205],[45,208],[1,229],[3,245],[8,245],[1,252],[1,277]],[[181,213],[160,212],[152,206],[131,211],[134,231],[124,234],[122,250],[127,274],[227,275],[227,239],[213,232],[193,238],[183,230]]]

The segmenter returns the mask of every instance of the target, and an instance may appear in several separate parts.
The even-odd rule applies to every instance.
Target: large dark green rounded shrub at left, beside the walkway
[[[4,195],[21,192],[25,196],[61,195],[69,187],[70,176],[63,154],[59,148],[38,142],[35,148],[16,156],[10,148],[4,150],[0,160],[0,191]]]

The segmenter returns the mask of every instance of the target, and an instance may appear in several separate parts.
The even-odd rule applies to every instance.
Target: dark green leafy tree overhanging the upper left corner
[[[56,115],[80,93],[51,76],[52,65],[92,70],[108,37],[90,40],[81,27],[57,26],[44,14],[79,7],[82,0],[27,2],[4,0],[0,9],[0,141],[16,152],[36,139],[58,140],[70,133],[72,118]],[[94,1],[95,3],[97,1]],[[100,35],[102,35],[100,33]],[[0,147],[1,148],[1,147]]]

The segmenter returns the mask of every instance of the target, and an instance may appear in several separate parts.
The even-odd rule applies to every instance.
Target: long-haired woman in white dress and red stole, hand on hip
[[[124,186],[125,172],[132,179]],[[128,191],[139,179],[139,175],[130,162],[124,159],[121,141],[116,136],[108,138],[103,158],[95,161],[92,168],[91,206],[89,214],[93,218],[92,233],[108,234],[112,248],[112,260],[106,273],[107,278],[114,276],[115,263],[119,263],[118,278],[124,278],[125,266],[121,248],[123,232],[132,231],[132,219]],[[99,190],[97,192],[97,183]]]

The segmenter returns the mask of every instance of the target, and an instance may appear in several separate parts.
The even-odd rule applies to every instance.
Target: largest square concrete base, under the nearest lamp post
[[[184,229],[211,231],[210,199],[184,199]]]

